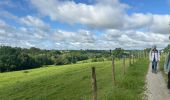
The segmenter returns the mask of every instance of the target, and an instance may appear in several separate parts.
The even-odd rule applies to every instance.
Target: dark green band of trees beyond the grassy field
[[[0,46],[0,72],[25,70],[44,65],[65,65],[91,59],[92,62],[111,60],[128,55],[122,48],[114,50],[42,50]]]

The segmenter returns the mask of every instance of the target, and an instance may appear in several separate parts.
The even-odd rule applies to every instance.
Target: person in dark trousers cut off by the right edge
[[[168,84],[167,84],[167,87],[168,87],[168,89],[170,89],[170,53],[168,53],[168,56],[165,59],[164,71],[165,71],[166,74],[168,74]]]

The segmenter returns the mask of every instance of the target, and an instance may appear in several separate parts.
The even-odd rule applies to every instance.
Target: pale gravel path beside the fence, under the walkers
[[[157,74],[152,73],[151,64],[149,64],[146,83],[146,100],[170,100],[170,92],[162,73],[160,71]]]

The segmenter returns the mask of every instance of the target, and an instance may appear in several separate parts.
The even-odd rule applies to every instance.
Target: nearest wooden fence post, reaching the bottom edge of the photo
[[[93,100],[97,100],[97,81],[95,67],[92,67],[92,89],[93,89]]]

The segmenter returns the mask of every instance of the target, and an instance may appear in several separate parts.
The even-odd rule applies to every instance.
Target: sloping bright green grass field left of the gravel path
[[[0,100],[91,100],[92,66],[96,67],[99,100],[142,99],[147,60],[126,66],[125,75],[122,61],[116,61],[116,86],[111,61],[0,73]]]

